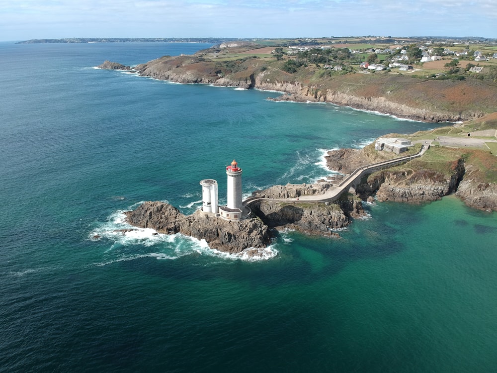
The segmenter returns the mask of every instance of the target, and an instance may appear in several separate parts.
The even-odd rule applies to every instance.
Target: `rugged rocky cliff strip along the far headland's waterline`
[[[255,65],[254,65],[255,66]],[[115,62],[105,61],[98,66],[102,69],[130,70]],[[206,62],[199,55],[159,58],[144,64],[139,64],[133,71],[143,77],[168,80],[183,84],[212,84],[214,86],[238,87],[243,89],[256,88],[267,91],[284,92],[271,100],[286,100],[297,102],[330,102],[340,106],[355,109],[377,111],[401,118],[421,120],[425,122],[455,122],[470,120],[485,115],[482,111],[444,110],[441,108],[421,106],[414,107],[405,102],[397,102],[388,95],[364,95],[350,91],[349,88],[326,87],[303,84],[291,79],[275,80],[271,70],[260,71],[255,68],[225,75],[215,64]],[[428,82],[430,83],[430,82]],[[353,87],[353,86],[350,86]]]

